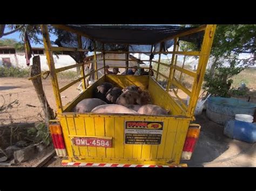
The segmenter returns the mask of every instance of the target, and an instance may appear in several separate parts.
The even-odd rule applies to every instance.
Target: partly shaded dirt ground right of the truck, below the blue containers
[[[182,160],[190,167],[255,166],[256,144],[230,139],[223,133],[224,126],[210,121],[206,112],[196,117],[201,132],[191,160]]]

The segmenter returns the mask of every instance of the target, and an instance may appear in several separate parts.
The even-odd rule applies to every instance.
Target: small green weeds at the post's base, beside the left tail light
[[[35,128],[29,128],[28,134],[34,136],[37,143],[48,146],[51,143],[50,132],[45,123],[39,123]]]

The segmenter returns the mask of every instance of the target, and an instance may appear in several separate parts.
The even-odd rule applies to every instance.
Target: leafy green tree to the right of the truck
[[[181,48],[197,50],[198,47],[183,42]],[[231,77],[255,65],[255,49],[256,25],[217,25],[210,55],[212,65],[206,72],[203,88],[212,95],[229,97]],[[247,53],[248,58],[240,59],[241,53]]]

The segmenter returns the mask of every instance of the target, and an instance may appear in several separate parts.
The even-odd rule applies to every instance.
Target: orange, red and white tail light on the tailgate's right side
[[[199,138],[200,128],[201,126],[198,124],[191,124],[189,126],[181,159],[190,160],[194,151],[194,147],[196,146],[197,140]]]

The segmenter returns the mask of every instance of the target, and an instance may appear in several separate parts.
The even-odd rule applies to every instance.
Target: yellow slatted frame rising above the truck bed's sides
[[[80,31],[76,31],[74,29],[71,29],[71,27],[65,26],[65,25],[52,25],[54,27],[57,27],[58,29],[61,30],[65,30],[65,31],[69,31],[72,33],[76,33],[78,35],[78,48],[68,48],[68,47],[52,47],[51,43],[50,43],[50,38],[49,38],[49,32],[48,32],[48,26],[47,25],[41,25],[41,29],[42,29],[42,34],[43,34],[43,41],[44,41],[44,47],[45,47],[45,53],[46,53],[46,58],[48,61],[48,65],[49,65],[49,69],[50,69],[50,76],[51,76],[51,80],[52,80],[52,86],[53,86],[53,93],[55,95],[55,99],[56,99],[56,104],[57,104],[57,108],[58,108],[58,113],[62,113],[63,112],[63,105],[62,105],[62,100],[60,97],[60,93],[66,89],[68,89],[70,86],[72,86],[73,84],[75,84],[76,82],[83,80],[83,89],[86,89],[86,84],[85,84],[85,77],[91,75],[92,73],[96,73],[96,80],[98,80],[98,70],[103,69],[104,68],[104,75],[105,75],[105,60],[119,60],[119,61],[134,61],[134,60],[130,60],[129,59],[129,55],[130,53],[152,53],[153,51],[153,45],[151,47],[151,52],[129,52],[129,51],[105,51],[104,50],[104,43],[103,43],[103,50],[96,50],[94,51],[94,59],[92,61],[87,61],[87,62],[83,62],[83,63],[78,63],[76,65],[71,65],[71,66],[66,66],[66,67],[62,67],[62,68],[55,68],[55,63],[53,61],[53,56],[52,56],[52,52],[54,51],[78,51],[78,52],[89,52],[89,50],[87,49],[83,49],[82,48],[82,44],[81,44],[81,37],[84,36],[86,38],[90,38],[92,39],[90,36],[88,36],[87,34],[80,32]],[[210,51],[211,51],[211,46],[213,43],[213,36],[214,36],[214,32],[216,29],[216,25],[202,25],[200,27],[197,27],[195,29],[191,29],[179,34],[176,34],[174,36],[170,36],[167,37],[165,39],[162,39],[161,41],[159,41],[160,47],[163,46],[163,42],[165,40],[170,40],[170,39],[174,39],[174,45],[173,45],[173,51],[170,52],[161,52],[161,48],[158,52],[154,52],[154,53],[158,53],[159,54],[159,59],[158,62],[154,61],[154,60],[143,60],[143,61],[149,61],[150,62],[150,66],[151,63],[158,63],[157,66],[157,70],[153,70],[153,72],[156,72],[156,81],[158,80],[159,75],[163,76],[165,79],[168,80],[168,84],[167,84],[167,88],[166,91],[169,93],[169,89],[170,87],[173,85],[177,86],[177,90],[173,91],[173,93],[176,95],[176,97],[178,98],[178,100],[181,101],[181,98],[178,96],[177,91],[178,89],[183,90],[188,96],[190,96],[190,104],[188,105],[188,107],[182,103],[180,107],[186,110],[186,116],[187,117],[192,117],[193,116],[193,112],[194,109],[196,108],[196,104],[197,104],[197,100],[198,100],[198,96],[200,93],[200,89],[201,89],[201,85],[203,83],[203,79],[204,79],[204,74],[205,74],[205,69],[206,69],[206,65],[207,65],[207,61],[208,58],[210,56]],[[204,34],[204,40],[203,40],[203,44],[201,45],[201,51],[191,51],[191,52],[187,52],[187,51],[179,51],[179,46],[178,46],[178,39],[179,37],[183,37],[189,34],[193,34],[193,33],[197,33],[200,31],[205,31]],[[97,40],[97,39],[94,39]],[[98,40],[97,40],[98,41]],[[100,42],[100,41],[99,41]],[[101,42],[102,43],[102,42]],[[102,68],[97,68],[97,54],[96,52],[102,52],[103,53],[103,62],[104,62],[104,67]],[[105,53],[117,53],[117,54],[126,54],[126,59],[105,59]],[[161,54],[162,53],[170,53],[172,54],[172,60],[171,60],[171,65],[167,65],[166,63],[162,63],[161,61]],[[191,72],[190,70],[187,70],[184,68],[184,63],[183,63],[183,67],[179,67],[176,66],[177,63],[177,56],[178,55],[196,55],[199,56],[199,62],[198,62],[198,68],[197,68],[197,72]],[[84,65],[88,62],[94,62],[95,63],[95,70],[87,75],[84,74],[84,69],[82,69],[83,71],[81,72],[81,77],[79,77],[79,79],[67,84],[66,86],[62,87],[59,89],[58,86],[58,79],[57,79],[57,73],[58,72],[63,72],[64,70],[67,69],[71,69],[73,67],[82,67],[84,68]],[[184,60],[185,62],[185,60]],[[126,64],[127,65],[127,64]],[[166,67],[170,67],[170,73],[169,76],[165,76],[164,74],[159,73],[159,66],[160,65],[164,65]],[[117,66],[119,67],[119,66]],[[119,67],[119,68],[131,68],[131,67]],[[149,68],[151,69],[151,68]],[[193,82],[193,86],[192,86],[192,91],[188,90],[187,88],[185,88],[182,84],[179,83],[179,80],[177,80],[174,77],[175,71],[178,70],[182,75],[183,73],[189,76],[192,76],[194,78],[194,82]]]

